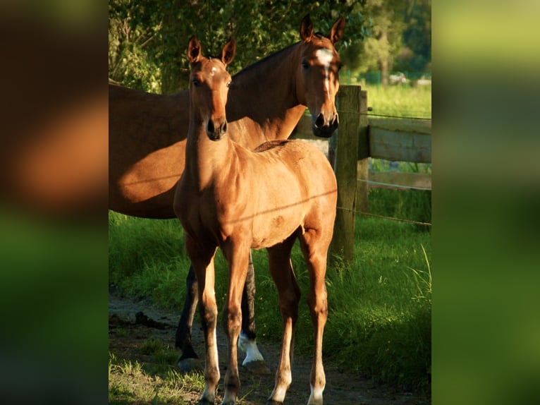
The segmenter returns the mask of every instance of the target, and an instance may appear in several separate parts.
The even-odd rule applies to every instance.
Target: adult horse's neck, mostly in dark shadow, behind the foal
[[[305,111],[296,97],[295,64],[290,61],[295,52],[293,45],[282,51],[282,57],[264,59],[234,76],[227,103],[229,122],[247,117],[268,140],[290,135]]]

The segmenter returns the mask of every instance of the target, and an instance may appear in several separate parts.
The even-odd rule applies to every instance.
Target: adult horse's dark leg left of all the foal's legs
[[[183,372],[198,370],[201,368],[199,356],[195,353],[191,344],[191,328],[193,325],[193,317],[199,302],[199,289],[193,265],[190,265],[188,277],[185,279],[186,291],[184,308],[180,315],[180,322],[176,329],[176,349],[182,350],[182,355],[178,359],[178,367]]]

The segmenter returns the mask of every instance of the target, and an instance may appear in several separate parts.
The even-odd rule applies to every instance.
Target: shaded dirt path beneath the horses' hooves
[[[142,312],[147,318],[141,322],[141,315],[137,322],[135,314]],[[145,355],[140,353],[140,346],[149,337],[160,339],[163,344],[174,347],[176,326],[180,319],[179,314],[167,313],[152,306],[147,301],[135,302],[118,294],[109,294],[109,351],[118,358],[132,361],[145,361]],[[114,329],[122,327],[128,333],[116,334]],[[226,338],[218,330],[219,361],[221,375],[225,375]],[[280,332],[281,333],[281,332]],[[195,351],[204,358],[203,337],[200,324],[195,322],[192,330],[192,340]],[[266,398],[274,387],[274,373],[278,364],[280,347],[276,344],[257,341],[266,365],[271,374],[254,375],[241,364],[244,353],[238,351],[238,364],[240,366],[240,393],[243,397],[241,404],[264,404]],[[179,353],[180,355],[180,353]],[[286,404],[305,404],[309,397],[309,371],[311,358],[295,355],[293,362],[293,383],[287,392]],[[325,404],[355,404],[355,405],[429,405],[431,400],[427,397],[418,397],[410,392],[396,392],[395,389],[375,385],[371,380],[363,379],[354,374],[339,370],[329,362],[325,362],[326,388],[324,389]],[[221,385],[220,385],[221,387]],[[218,392],[221,394],[221,392]],[[188,394],[192,395],[192,394]],[[190,403],[197,403],[198,394],[186,397]],[[221,397],[219,397],[221,399]]]

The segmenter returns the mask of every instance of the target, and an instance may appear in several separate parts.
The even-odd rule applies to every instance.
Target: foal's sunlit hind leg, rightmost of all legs
[[[322,363],[322,339],[324,325],[326,325],[326,319],[328,318],[328,302],[324,277],[326,274],[326,258],[329,244],[330,240],[328,238],[321,238],[320,232],[314,229],[307,230],[300,237],[300,246],[309,270],[309,296],[307,297],[307,303],[314,332],[314,356],[311,374],[309,375],[311,394],[307,402],[308,405],[321,405],[323,403],[322,392],[326,385]]]

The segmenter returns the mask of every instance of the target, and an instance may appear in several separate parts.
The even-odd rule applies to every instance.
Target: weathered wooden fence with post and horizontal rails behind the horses
[[[431,163],[431,119],[368,119],[367,91],[340,85],[336,99],[339,128],[329,140],[329,159],[338,180],[338,211],[332,250],[352,260],[355,216],[368,212],[369,188],[431,190],[431,175],[370,173],[369,157],[401,162]],[[315,138],[311,116],[298,123],[292,138]]]

